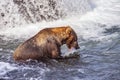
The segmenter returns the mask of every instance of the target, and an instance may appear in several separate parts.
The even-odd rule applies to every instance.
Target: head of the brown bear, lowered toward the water
[[[70,27],[67,26],[66,30],[65,30],[66,35],[66,39],[65,39],[65,44],[67,45],[67,47],[69,49],[71,48],[75,48],[75,49],[79,49],[79,45],[78,45],[78,38],[77,38],[77,34],[75,33],[75,31]]]

